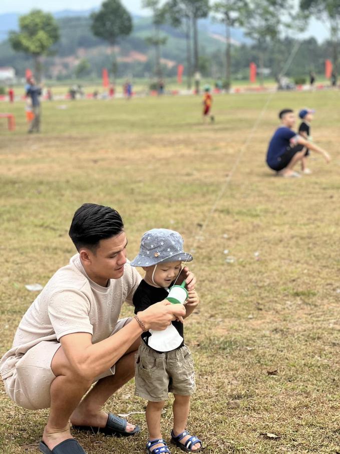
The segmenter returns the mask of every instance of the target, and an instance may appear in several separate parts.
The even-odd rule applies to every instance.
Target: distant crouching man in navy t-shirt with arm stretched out
[[[295,164],[305,157],[306,148],[321,154],[325,161],[330,161],[329,154],[322,148],[316,146],[292,131],[295,124],[295,115],[291,109],[283,109],[278,114],[281,125],[276,129],[272,136],[266,162],[268,166],[277,172],[277,175],[283,177],[300,176],[294,172]]]

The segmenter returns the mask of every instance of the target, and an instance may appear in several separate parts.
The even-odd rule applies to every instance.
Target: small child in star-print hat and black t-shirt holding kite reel
[[[182,262],[191,262],[192,256],[183,251],[179,233],[168,229],[152,229],[141,240],[138,256],[131,266],[142,267],[145,277],[133,296],[135,314],[152,304],[163,301],[182,271]],[[178,282],[181,284],[182,282]],[[176,282],[177,284],[177,282]],[[184,303],[188,317],[199,304],[195,290],[188,293]],[[148,400],[145,415],[149,430],[146,444],[148,454],[170,453],[161,434],[161,412],[168,398],[174,394],[174,425],[171,442],[186,452],[202,449],[202,442],[186,430],[190,409],[190,395],[195,391],[194,362],[184,344],[183,323],[174,320],[165,331],[147,331],[137,354],[135,394]]]

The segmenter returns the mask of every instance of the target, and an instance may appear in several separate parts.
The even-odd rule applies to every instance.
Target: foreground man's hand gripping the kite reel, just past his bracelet
[[[138,312],[138,317],[145,327],[155,331],[166,329],[173,320],[183,321],[183,316],[185,316],[183,304],[171,304],[167,300],[152,304],[144,311]]]

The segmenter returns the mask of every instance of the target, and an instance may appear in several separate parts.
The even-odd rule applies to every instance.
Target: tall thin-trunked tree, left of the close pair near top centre
[[[187,88],[191,89],[192,56],[191,56],[191,16],[186,0],[169,0],[165,5],[170,23],[175,28],[184,29],[187,61]]]

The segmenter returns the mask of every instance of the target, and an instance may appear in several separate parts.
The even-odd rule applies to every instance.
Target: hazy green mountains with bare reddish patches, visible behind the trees
[[[53,78],[72,77],[77,65],[84,59],[91,69],[84,70],[84,76],[100,75],[102,67],[110,67],[111,57],[108,44],[93,36],[90,14],[93,10],[63,10],[54,13],[60,28],[60,40],[53,47],[53,57],[44,59],[45,74]],[[19,15],[16,13],[0,15],[0,66],[14,66],[17,74],[23,75],[25,68],[31,65],[29,56],[15,53],[6,40],[9,30],[18,30]],[[145,39],[153,33],[150,17],[133,15],[133,32],[124,38],[116,47],[120,75],[128,73],[152,74],[154,50],[146,44]],[[199,42],[200,54],[211,55],[225,49],[224,27],[210,18],[200,20]],[[161,27],[162,35],[167,38],[162,47],[162,64],[165,74],[174,75],[178,63],[186,63],[186,42],[184,32],[165,24]],[[248,40],[241,30],[231,31],[232,44],[240,46]],[[1,40],[1,38],[4,38]],[[1,42],[2,41],[2,42]],[[89,65],[87,65],[89,66]]]

